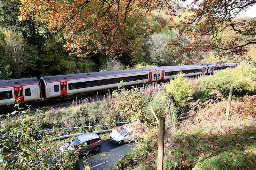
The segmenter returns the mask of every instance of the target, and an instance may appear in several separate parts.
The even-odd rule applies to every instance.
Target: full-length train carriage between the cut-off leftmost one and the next
[[[84,94],[118,87],[123,80],[124,86],[132,86],[156,81],[154,68],[91,72],[41,77],[45,99]]]

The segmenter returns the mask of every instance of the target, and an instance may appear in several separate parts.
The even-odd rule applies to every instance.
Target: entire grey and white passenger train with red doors
[[[0,81],[0,110],[10,109],[15,103],[60,101],[89,92],[107,91],[118,87],[123,80],[124,86],[143,85],[152,82],[166,82],[175,78],[178,72],[184,76],[211,74],[226,68],[235,68],[238,63],[163,66],[143,69],[116,70],[20,78]]]

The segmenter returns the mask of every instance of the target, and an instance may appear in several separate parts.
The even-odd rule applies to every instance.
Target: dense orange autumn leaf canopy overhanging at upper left
[[[13,1],[13,0],[12,0]],[[65,30],[66,47],[71,54],[87,56],[105,50],[107,55],[133,47],[129,32],[137,33],[150,11],[172,9],[166,1],[151,0],[20,0],[20,20],[32,15],[41,18],[52,32]],[[170,2],[169,2],[170,3]],[[145,29],[149,29],[146,27]],[[96,50],[93,50],[97,47]],[[122,52],[120,53],[122,55]]]

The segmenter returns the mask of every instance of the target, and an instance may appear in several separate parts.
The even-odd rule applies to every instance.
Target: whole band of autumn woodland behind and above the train
[[[254,1],[36,3],[0,1],[0,79],[256,61]]]

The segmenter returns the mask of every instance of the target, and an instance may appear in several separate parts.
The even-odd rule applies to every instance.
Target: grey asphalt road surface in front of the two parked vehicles
[[[132,142],[120,146],[109,140],[104,140],[100,151],[97,153],[92,152],[90,153],[91,156],[87,157],[87,163],[92,167],[91,170],[108,170],[115,165],[116,161],[131,152],[136,147],[136,144]],[[84,169],[84,160],[83,156],[78,160],[81,170]]]

